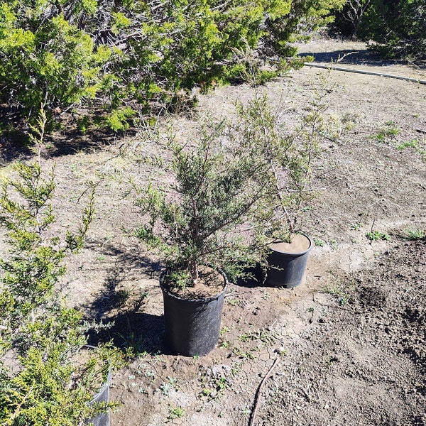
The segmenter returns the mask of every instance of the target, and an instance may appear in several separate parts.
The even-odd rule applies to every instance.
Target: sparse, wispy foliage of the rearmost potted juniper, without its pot
[[[322,86],[325,81],[320,83]],[[302,214],[317,196],[312,188],[313,161],[320,155],[318,137],[322,130],[322,113],[327,108],[324,87],[300,119],[299,126],[286,129],[270,106],[268,97],[258,91],[249,103],[239,104],[239,121],[234,143],[239,157],[257,163],[258,173],[251,176],[264,197],[256,210],[257,237],[269,241],[290,242],[300,231]]]

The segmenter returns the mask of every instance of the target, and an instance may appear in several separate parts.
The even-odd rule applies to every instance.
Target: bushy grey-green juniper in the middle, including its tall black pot
[[[203,129],[196,143],[169,139],[173,183],[153,184],[138,200],[136,231],[163,259],[166,345],[185,356],[205,355],[217,344],[227,278],[254,263],[241,226],[258,194],[247,185],[252,165],[229,158],[218,139],[223,126]],[[253,185],[252,185],[253,186]]]

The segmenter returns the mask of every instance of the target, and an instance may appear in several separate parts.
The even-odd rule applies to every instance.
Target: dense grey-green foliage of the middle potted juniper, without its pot
[[[204,129],[191,145],[169,141],[173,190],[149,185],[138,200],[144,221],[136,235],[160,252],[177,286],[194,286],[200,266],[234,279],[255,261],[241,226],[262,195],[249,185],[257,165],[221,148],[223,131]]]

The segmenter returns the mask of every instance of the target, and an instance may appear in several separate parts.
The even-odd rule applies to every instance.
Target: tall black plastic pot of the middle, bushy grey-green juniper
[[[202,356],[212,351],[219,339],[222,307],[228,280],[224,289],[213,297],[188,300],[171,294],[164,287],[164,271],[160,276],[160,288],[164,300],[165,344],[184,356]]]

